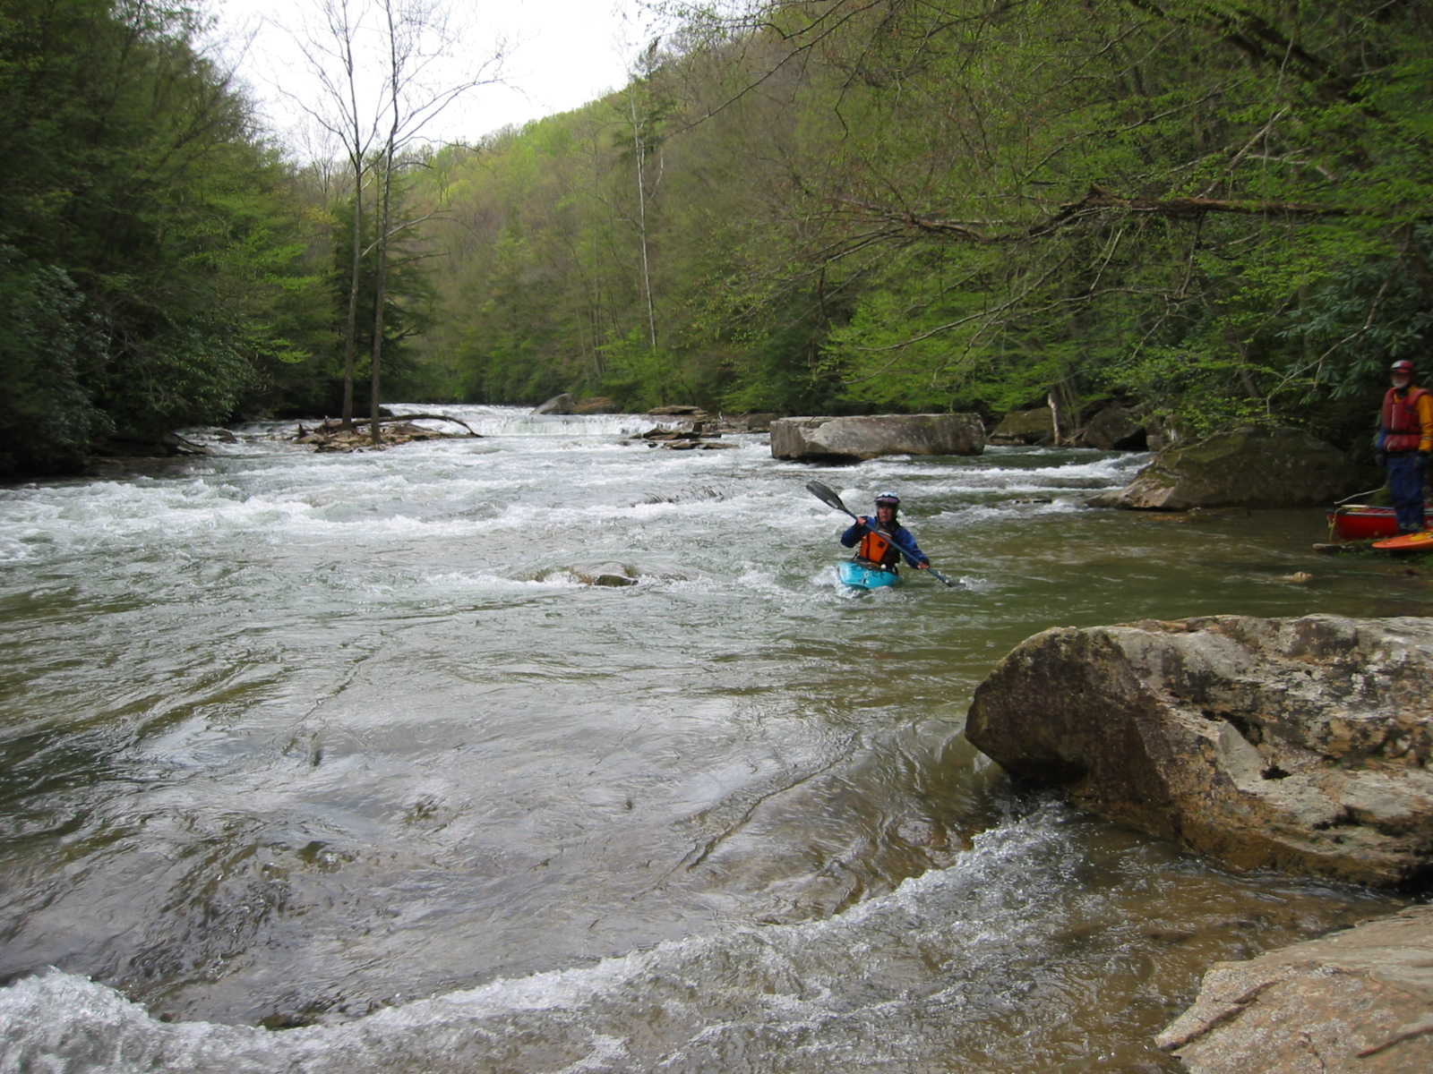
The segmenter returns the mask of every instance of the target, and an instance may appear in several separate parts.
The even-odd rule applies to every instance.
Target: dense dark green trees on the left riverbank
[[[315,281],[277,159],[196,52],[191,9],[11,0],[0,14],[0,455],[219,421],[304,345]],[[42,348],[40,338],[53,341]]]

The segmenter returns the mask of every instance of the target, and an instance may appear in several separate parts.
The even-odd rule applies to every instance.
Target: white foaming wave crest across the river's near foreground
[[[989,831],[952,868],[907,879],[833,918],[737,925],[589,967],[494,979],[353,1022],[284,1032],[162,1022],[110,988],[49,971],[0,988],[0,1068],[258,1074],[441,1063],[457,1070],[480,1068],[494,1050],[520,1053],[539,1040],[553,1054],[585,1050],[582,1058],[553,1067],[580,1071],[629,1060],[631,1068],[641,1068],[631,1054],[633,1041],[651,1047],[653,1035],[659,1051],[694,1057],[711,1057],[708,1050],[728,1031],[744,1037],[758,1027],[778,1035],[811,1025],[850,1027],[860,1035],[884,1020],[883,1008],[913,998],[867,979],[867,967],[920,961],[920,952],[934,947],[960,965],[933,975],[927,991],[964,987],[952,985],[952,977],[974,981],[999,972],[1048,928],[1045,904],[1072,853],[1058,818],[1046,812]],[[663,1011],[661,1022],[651,1021],[652,1010]],[[909,1024],[906,1032],[917,1030]],[[900,1044],[919,1047],[916,1040]]]

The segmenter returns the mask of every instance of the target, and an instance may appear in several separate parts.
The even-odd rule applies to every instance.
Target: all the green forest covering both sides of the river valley
[[[0,10],[0,470],[334,412],[351,186],[281,160],[182,9]],[[718,11],[605,100],[408,155],[385,397],[1351,438],[1433,342],[1424,3]]]

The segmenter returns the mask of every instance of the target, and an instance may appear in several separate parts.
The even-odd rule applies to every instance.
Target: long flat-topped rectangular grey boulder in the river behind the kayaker
[[[777,418],[774,458],[858,463],[881,455],[979,455],[984,427],[974,414],[878,414],[856,418]]]

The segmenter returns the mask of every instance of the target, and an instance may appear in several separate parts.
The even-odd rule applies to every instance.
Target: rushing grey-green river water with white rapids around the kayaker
[[[447,410],[481,437],[0,488],[0,1070],[1176,1070],[1211,962],[1396,905],[1019,796],[962,735],[1046,627],[1433,614],[1321,511]],[[811,478],[898,491],[960,587],[841,587]]]

